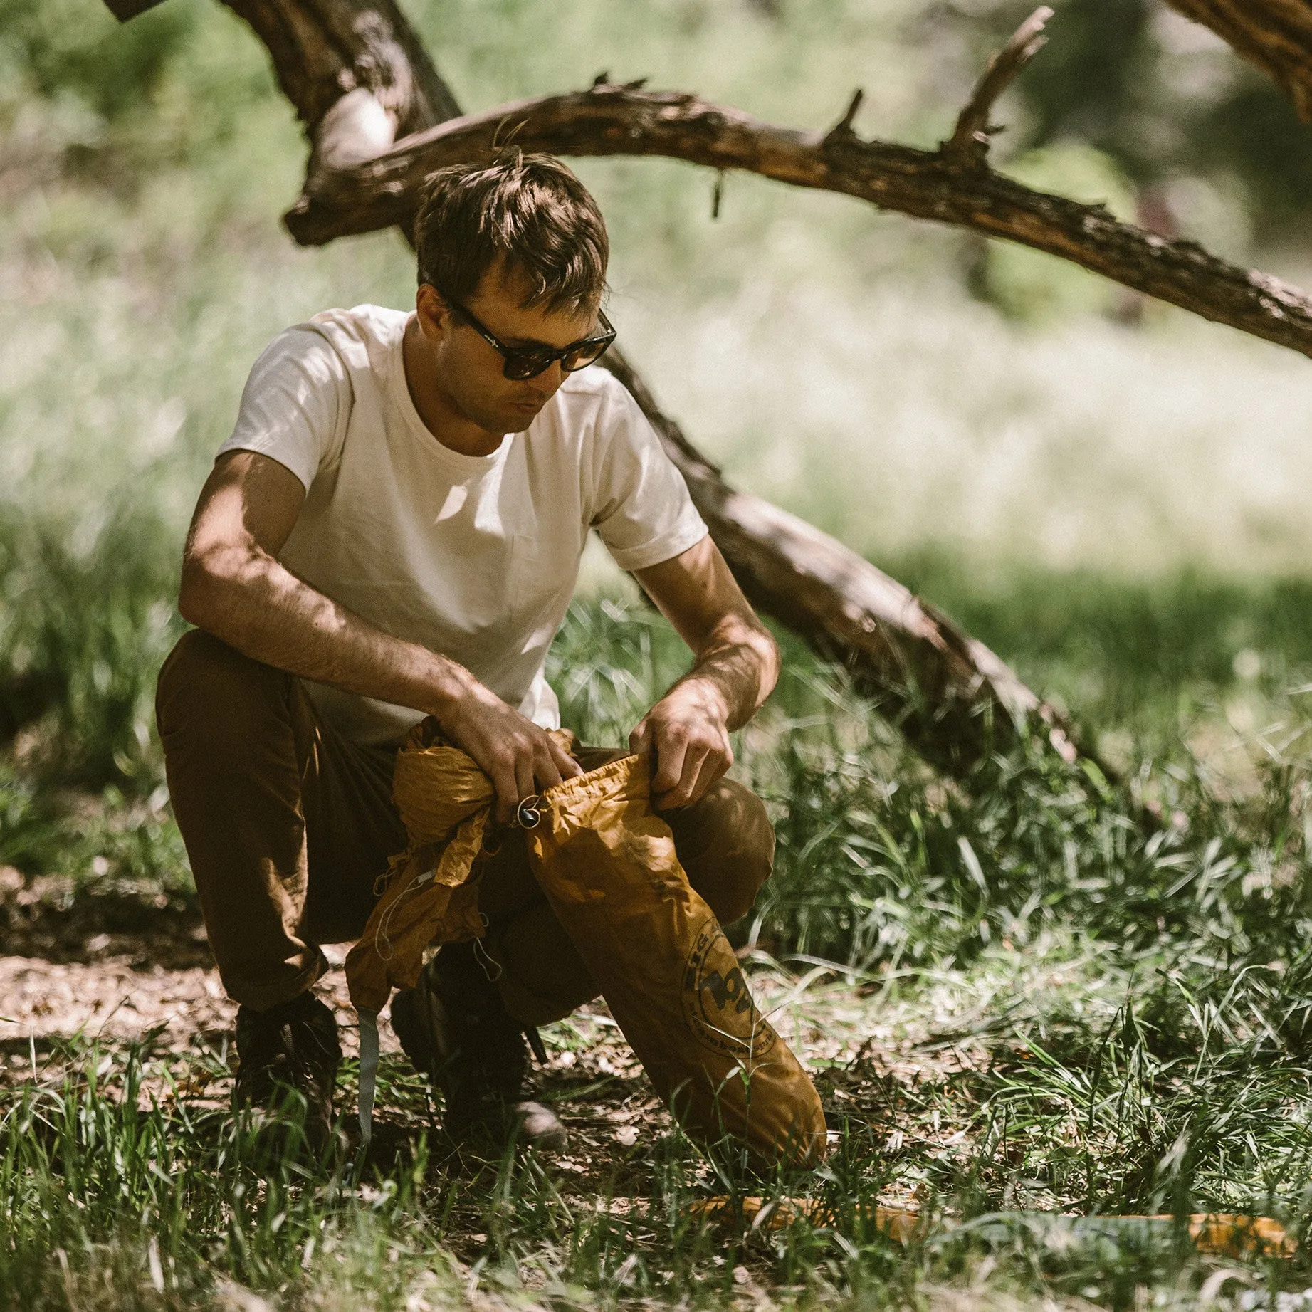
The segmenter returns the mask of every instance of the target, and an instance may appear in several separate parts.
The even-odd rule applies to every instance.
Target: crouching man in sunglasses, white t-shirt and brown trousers
[[[188,535],[195,625],[160,673],[169,791],[237,1013],[236,1101],[281,1086],[325,1136],[340,1048],[311,987],[357,938],[405,846],[391,775],[433,716],[520,799],[575,760],[547,729],[543,661],[596,529],[694,653],[630,737],[693,884],[722,921],[770,870],[761,803],[724,779],[729,731],[778,652],[632,398],[586,369],[614,338],[596,202],[518,152],[445,169],[416,222],[413,314],[359,306],[282,333],[251,373]],[[392,1023],[440,1084],[453,1134],[559,1143],[525,1102],[523,1030],[596,987],[517,832],[480,886],[485,937],[443,947]]]

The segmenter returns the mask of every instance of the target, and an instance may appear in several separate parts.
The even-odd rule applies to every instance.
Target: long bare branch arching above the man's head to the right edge
[[[1204,319],[1312,356],[1312,298],[1267,274],[1227,264],[1194,241],[1122,223],[1101,205],[1031,190],[983,161],[962,165],[947,148],[863,142],[846,119],[829,133],[802,133],[698,96],[632,85],[600,84],[504,105],[403,139],[356,168],[323,171],[307,180],[286,216],[287,227],[298,241],[320,244],[405,226],[433,169],[506,142],[554,155],[661,155],[840,192],[882,210],[1046,251]]]

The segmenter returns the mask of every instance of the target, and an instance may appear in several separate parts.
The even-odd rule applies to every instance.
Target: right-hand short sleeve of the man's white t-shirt
[[[592,526],[621,569],[646,569],[695,546],[707,529],[638,401],[618,379],[607,380],[594,434]]]

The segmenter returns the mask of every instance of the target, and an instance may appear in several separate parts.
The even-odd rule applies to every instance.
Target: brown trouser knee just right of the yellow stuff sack
[[[765,803],[732,779],[666,816],[689,882],[722,925],[745,916],[774,869],[774,827]]]

